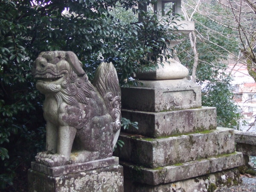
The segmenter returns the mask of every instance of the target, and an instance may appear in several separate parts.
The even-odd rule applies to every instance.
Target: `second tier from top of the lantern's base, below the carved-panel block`
[[[122,116],[139,123],[139,129],[123,130],[146,137],[163,137],[211,130],[217,127],[216,108],[202,107],[167,112],[122,110]]]

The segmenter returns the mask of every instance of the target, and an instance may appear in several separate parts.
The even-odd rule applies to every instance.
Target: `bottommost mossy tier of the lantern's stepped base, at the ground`
[[[124,178],[125,192],[213,192],[216,187],[233,186],[242,182],[237,169],[215,172],[187,180],[157,186],[141,184]],[[211,189],[211,190],[210,190]]]

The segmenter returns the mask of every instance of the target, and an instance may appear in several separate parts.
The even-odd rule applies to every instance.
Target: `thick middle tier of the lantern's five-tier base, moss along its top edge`
[[[140,135],[120,134],[125,145],[114,155],[120,160],[148,168],[200,160],[235,151],[234,130],[217,128],[194,134],[167,138],[145,138]]]

